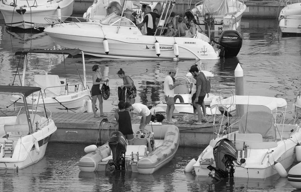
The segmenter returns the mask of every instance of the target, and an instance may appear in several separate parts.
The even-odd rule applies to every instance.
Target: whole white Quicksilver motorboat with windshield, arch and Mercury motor
[[[158,1],[158,0],[157,0]],[[165,2],[165,1],[164,1]],[[136,26],[132,10],[115,11],[100,22],[64,22],[51,24],[45,32],[59,45],[68,48],[80,48],[86,54],[108,58],[129,59],[218,59],[221,49],[236,51],[233,43],[242,41],[238,34],[235,38],[223,38],[225,45],[211,45],[208,36],[197,32],[193,37],[169,37],[162,34],[164,20],[168,18],[169,6],[174,1],[168,0],[162,6],[158,22],[158,35],[143,35]],[[52,19],[46,18],[49,23]],[[54,21],[56,23],[56,21]],[[225,34],[227,36],[228,34]],[[227,56],[227,55],[225,55]]]

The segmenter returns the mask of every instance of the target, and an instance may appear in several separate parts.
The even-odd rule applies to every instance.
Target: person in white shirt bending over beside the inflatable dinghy
[[[145,125],[150,122],[150,119],[152,119],[152,113],[150,112],[149,108],[142,103],[130,104],[129,102],[125,102],[124,108],[130,112],[137,113],[142,116],[139,129],[143,129]],[[130,115],[132,117],[131,113]]]

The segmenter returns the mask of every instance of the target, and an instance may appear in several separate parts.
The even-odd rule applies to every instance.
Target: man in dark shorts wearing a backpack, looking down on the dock
[[[197,80],[197,92],[192,96],[193,105],[196,107],[198,112],[198,121],[195,122],[195,124],[202,124],[202,117],[205,118],[206,111],[203,114],[202,111],[202,103],[204,101],[204,98],[207,94],[206,92],[206,81],[205,81],[205,75],[202,74],[202,72],[199,71],[198,67],[196,65],[192,65],[190,67],[189,72],[191,72],[192,75],[196,76]]]

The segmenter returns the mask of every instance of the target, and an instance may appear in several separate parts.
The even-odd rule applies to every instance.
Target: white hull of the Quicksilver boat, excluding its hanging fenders
[[[77,47],[86,54],[108,58],[125,59],[174,59],[174,44],[178,44],[179,59],[218,59],[219,50],[215,50],[208,42],[198,38],[148,36],[139,34],[139,30],[120,26],[104,26],[92,23],[64,23],[49,26],[45,32],[63,47]],[[83,34],[85,34],[83,36]],[[105,50],[103,39],[107,39]],[[155,42],[160,44],[157,55]],[[108,53],[106,53],[108,52]]]

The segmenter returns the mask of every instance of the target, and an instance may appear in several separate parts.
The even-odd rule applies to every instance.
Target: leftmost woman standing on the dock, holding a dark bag
[[[103,113],[103,107],[102,107],[102,95],[100,91],[100,84],[104,83],[105,81],[102,79],[102,75],[100,72],[100,66],[95,64],[92,67],[92,70],[94,71],[92,79],[93,79],[93,86],[91,88],[91,94],[92,94],[92,110],[94,113],[95,118],[99,118],[99,116],[96,114],[96,101],[97,98],[99,100],[99,111],[100,111],[100,116],[105,117],[106,115]],[[108,81],[107,79],[106,81]]]

